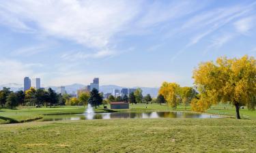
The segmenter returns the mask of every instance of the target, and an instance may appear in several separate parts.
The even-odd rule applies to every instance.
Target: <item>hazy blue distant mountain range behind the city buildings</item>
[[[17,91],[17,90],[23,90],[23,84],[16,84],[16,83],[10,83],[10,84],[3,84],[0,85],[0,90],[3,87],[8,87],[11,88],[11,90],[13,91]],[[58,90],[58,86],[46,86],[46,88],[53,88],[53,90],[57,91]],[[81,88],[84,88],[85,85],[83,84],[70,84],[70,85],[66,85],[65,89],[68,93],[72,93],[72,92],[76,92],[76,90],[79,90]],[[103,85],[100,86],[100,92],[106,93],[106,92],[111,92],[113,93],[113,89],[119,89],[121,90],[122,88],[126,88],[123,86],[116,86],[116,85]],[[159,88],[151,88],[151,87],[134,87],[134,88],[141,88],[143,90],[143,95],[147,95],[150,94],[152,97],[157,97],[158,95],[158,90]]]

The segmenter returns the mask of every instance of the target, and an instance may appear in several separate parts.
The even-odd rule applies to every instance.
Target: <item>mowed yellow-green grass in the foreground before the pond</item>
[[[0,125],[0,152],[256,152],[256,121],[119,119]]]

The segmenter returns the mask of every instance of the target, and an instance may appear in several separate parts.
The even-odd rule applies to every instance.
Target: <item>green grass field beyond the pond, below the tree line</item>
[[[108,107],[110,107],[108,105]],[[31,120],[38,120],[45,118],[44,115],[49,114],[80,114],[85,112],[86,107],[83,106],[63,106],[63,107],[18,107],[17,109],[0,109],[0,124],[3,123],[17,123],[27,122]],[[103,109],[102,106],[94,109],[96,112],[108,112],[109,109]],[[190,111],[190,106],[179,105],[177,109],[173,110],[168,105],[158,104],[137,104],[130,105],[130,109],[113,109],[113,111],[125,112],[146,112],[146,111]],[[215,105],[208,109],[206,113],[221,114],[224,116],[236,116],[235,108],[231,105]],[[256,120],[256,112],[248,111],[248,109],[240,109],[242,118],[249,118]]]

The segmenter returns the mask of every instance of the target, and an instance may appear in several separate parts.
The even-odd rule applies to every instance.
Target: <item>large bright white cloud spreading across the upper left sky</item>
[[[138,6],[138,2],[117,0],[14,0],[1,2],[0,16],[11,27],[28,29],[34,22],[35,26],[29,28],[40,33],[102,48],[137,14]]]

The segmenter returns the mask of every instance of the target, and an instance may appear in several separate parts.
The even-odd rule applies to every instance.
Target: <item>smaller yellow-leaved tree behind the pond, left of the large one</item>
[[[179,88],[179,84],[163,82],[158,94],[164,96],[168,105],[176,109],[177,103],[179,103],[180,100],[178,97]]]

